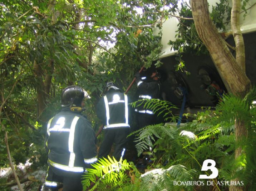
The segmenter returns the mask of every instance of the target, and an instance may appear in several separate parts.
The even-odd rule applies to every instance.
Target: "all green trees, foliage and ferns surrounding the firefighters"
[[[256,88],[245,73],[245,45],[240,12],[246,17],[255,4],[249,0],[220,0],[208,10],[207,0],[2,0],[0,2],[0,167],[13,173],[0,179],[1,190],[18,185],[38,190],[41,181],[21,188],[17,165],[46,171],[44,138],[48,120],[60,109],[63,88],[78,85],[89,92],[85,114],[95,132],[100,127],[95,104],[107,81],[127,89],[134,74],[161,60],[161,28],[166,19],[179,20],[177,69],[186,72],[182,53],[210,55],[228,92],[215,110],[206,108],[182,127],[150,125],[134,131],[137,154],[152,146],[146,173],[127,160],[109,157],[84,176],[91,190],[254,190],[256,187]],[[223,39],[230,25],[236,56]],[[159,28],[158,34],[153,34]],[[222,36],[220,35],[222,34]],[[189,71],[188,71],[189,72]],[[136,91],[133,86],[129,95]],[[135,100],[134,100],[135,101]],[[170,102],[149,100],[145,108],[176,122]],[[149,145],[148,136],[153,140]],[[98,137],[98,144],[102,136]],[[216,162],[213,185],[176,185],[198,180],[203,161]],[[104,167],[102,167],[104,166]],[[208,175],[210,171],[206,172]],[[29,179],[29,180],[30,180]],[[242,186],[221,181],[243,182]]]

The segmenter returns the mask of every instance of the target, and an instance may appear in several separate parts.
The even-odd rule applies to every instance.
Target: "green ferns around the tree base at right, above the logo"
[[[212,159],[216,161],[219,171],[218,181],[231,181],[239,177],[244,185],[253,190],[255,183],[249,177],[255,176],[255,167],[251,166],[255,162],[253,157],[256,136],[255,105],[252,104],[256,99],[255,92],[256,89],[253,87],[243,99],[226,94],[215,110],[208,108],[205,112],[198,112],[193,116],[195,118],[193,122],[183,127],[158,124],[135,131],[133,134],[136,134],[138,155],[151,146],[153,147],[151,167],[179,164],[190,170],[195,169],[194,177],[197,178],[198,172],[201,173],[203,161]],[[150,105],[144,105],[146,109],[149,107]],[[185,116],[188,117],[188,114]],[[247,138],[241,141],[235,140],[234,135],[233,127],[237,116],[243,120],[248,130]],[[238,147],[242,148],[245,154],[235,159],[234,151]],[[236,173],[231,173],[233,171]],[[220,189],[220,185],[215,186],[216,189]]]

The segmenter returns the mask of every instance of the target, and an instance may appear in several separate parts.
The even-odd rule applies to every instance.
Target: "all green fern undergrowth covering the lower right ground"
[[[153,147],[153,163],[147,166],[151,171],[143,174],[133,162],[108,158],[100,160],[94,165],[95,169],[84,176],[84,187],[89,190],[228,190],[238,177],[237,186],[253,190],[256,186],[253,181],[256,180],[256,107],[252,102],[255,99],[255,88],[243,99],[224,95],[215,110],[207,108],[194,115],[184,114],[193,120],[182,127],[157,124],[133,132],[138,155]],[[167,111],[170,103],[156,99],[141,102],[145,108],[166,112],[167,120],[175,120]],[[236,141],[234,135],[238,116],[247,127],[247,137],[241,141]],[[234,151],[238,147],[243,154],[235,160]],[[212,173],[201,171],[206,159],[216,162],[218,176],[205,180],[202,185],[199,175]],[[207,185],[207,181],[212,184]],[[193,185],[181,185],[181,182]]]

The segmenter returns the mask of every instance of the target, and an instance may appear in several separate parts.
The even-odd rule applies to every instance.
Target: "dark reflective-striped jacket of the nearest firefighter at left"
[[[84,172],[97,161],[95,132],[80,113],[63,108],[47,124],[48,164],[58,172]]]

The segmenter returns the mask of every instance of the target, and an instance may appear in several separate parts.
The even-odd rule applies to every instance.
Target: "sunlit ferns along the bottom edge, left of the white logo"
[[[185,166],[173,165],[168,169],[155,169],[140,174],[133,163],[114,158],[100,159],[93,164],[94,169],[87,169],[82,181],[84,189],[89,190],[182,190],[188,186],[173,187],[173,181],[192,180],[194,170]],[[94,184],[90,184],[93,182]]]

